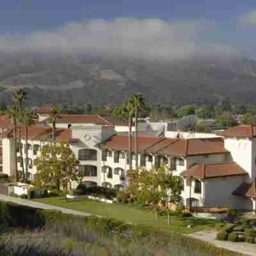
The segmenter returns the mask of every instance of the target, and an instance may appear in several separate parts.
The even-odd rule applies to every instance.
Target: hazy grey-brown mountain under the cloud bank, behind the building
[[[24,86],[31,104],[117,103],[133,92],[149,102],[254,103],[256,61],[241,57],[191,58],[173,62],[88,54],[0,54],[0,102]]]

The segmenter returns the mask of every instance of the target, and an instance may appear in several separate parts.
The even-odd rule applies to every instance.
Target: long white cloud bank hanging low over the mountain
[[[94,52],[176,60],[195,54],[232,54],[230,45],[205,40],[205,20],[115,19],[71,22],[52,31],[0,36],[0,51]]]

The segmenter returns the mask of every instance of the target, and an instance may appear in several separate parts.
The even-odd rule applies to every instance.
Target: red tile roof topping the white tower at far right
[[[237,125],[217,133],[221,136],[235,136],[253,138],[256,136],[256,127],[253,125]]]

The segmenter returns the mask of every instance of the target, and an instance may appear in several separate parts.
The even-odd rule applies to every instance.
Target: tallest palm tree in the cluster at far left
[[[23,180],[25,180],[25,170],[24,170],[24,163],[23,163],[23,155],[22,155],[22,147],[21,147],[21,134],[20,134],[20,124],[22,123],[23,118],[23,102],[27,99],[27,92],[23,89],[17,89],[12,92],[13,94],[13,102],[17,105],[19,109],[19,125],[17,125],[18,132],[19,132],[19,152],[20,152],[20,166],[22,168],[22,175]]]

